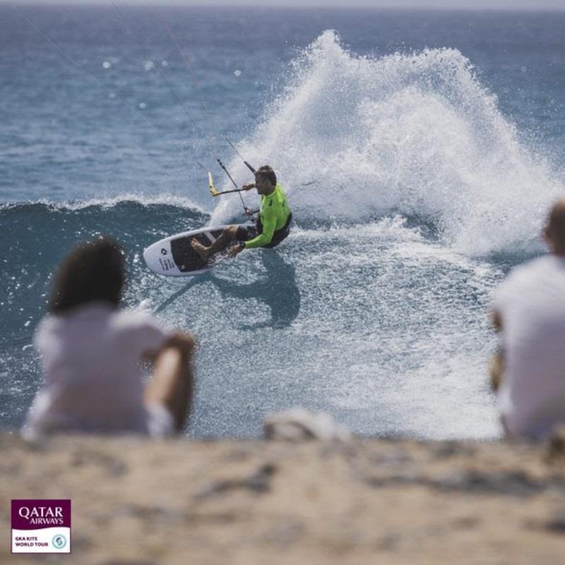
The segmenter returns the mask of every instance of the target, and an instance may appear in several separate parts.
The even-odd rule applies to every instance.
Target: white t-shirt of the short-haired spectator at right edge
[[[541,437],[565,423],[565,258],[512,270],[494,297],[502,319],[501,412],[512,434]]]

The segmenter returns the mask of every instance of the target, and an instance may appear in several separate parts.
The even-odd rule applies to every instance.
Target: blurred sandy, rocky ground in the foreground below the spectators
[[[565,563],[565,449],[0,434],[0,562]],[[11,499],[72,499],[72,554],[10,554]]]

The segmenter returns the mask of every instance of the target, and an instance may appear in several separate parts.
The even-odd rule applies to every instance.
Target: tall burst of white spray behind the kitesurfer
[[[275,167],[298,217],[422,215],[466,254],[529,246],[564,189],[458,50],[355,57],[333,31],[294,61],[285,92],[238,150]],[[241,160],[229,168],[249,180]],[[240,207],[225,198],[212,221]]]

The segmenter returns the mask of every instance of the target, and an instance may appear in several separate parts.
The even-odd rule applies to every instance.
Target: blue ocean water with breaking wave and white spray
[[[80,239],[128,252],[128,307],[193,331],[189,434],[302,405],[365,435],[493,439],[492,292],[563,194],[565,13],[0,5],[0,426]],[[270,163],[295,227],[199,278],[156,239],[242,220],[215,157]],[[245,195],[248,206],[256,196]]]

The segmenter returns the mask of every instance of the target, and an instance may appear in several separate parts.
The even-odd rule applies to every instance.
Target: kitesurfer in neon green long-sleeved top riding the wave
[[[245,190],[256,188],[257,194],[261,196],[261,208],[256,225],[230,225],[208,247],[193,239],[191,246],[203,261],[208,261],[210,256],[228,246],[231,246],[228,251],[230,257],[235,257],[244,249],[275,247],[290,233],[292,213],[283,187],[278,184],[277,176],[271,167],[264,165],[257,169],[255,182],[246,184],[243,188]],[[237,244],[233,245],[234,242]]]

